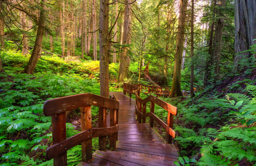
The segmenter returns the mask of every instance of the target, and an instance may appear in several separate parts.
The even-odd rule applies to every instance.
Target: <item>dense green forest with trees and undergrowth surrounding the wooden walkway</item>
[[[159,98],[179,110],[177,165],[256,161],[255,0],[1,0],[0,80],[0,165],[53,164],[45,100],[109,97],[124,82],[171,89]],[[79,116],[66,115],[67,137]],[[68,164],[80,162],[80,147]]]

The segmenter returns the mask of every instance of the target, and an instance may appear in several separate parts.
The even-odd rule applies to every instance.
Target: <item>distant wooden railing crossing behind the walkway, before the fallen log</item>
[[[155,85],[143,85],[143,84],[134,84],[135,86],[140,87],[140,92],[144,93],[154,93],[157,96],[170,97],[170,89],[168,87],[158,87]]]

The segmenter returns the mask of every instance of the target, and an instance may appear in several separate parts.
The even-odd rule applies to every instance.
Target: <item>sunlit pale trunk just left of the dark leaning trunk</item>
[[[27,30],[27,21],[26,21],[26,14],[24,12],[20,12],[20,19],[21,19],[21,27],[22,31],[22,55],[28,54],[28,41],[26,36],[26,30]]]

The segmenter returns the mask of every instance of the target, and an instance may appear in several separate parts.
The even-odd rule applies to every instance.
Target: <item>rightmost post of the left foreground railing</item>
[[[117,118],[117,110],[110,109],[110,127],[116,126],[116,119]],[[116,148],[116,133],[110,135],[110,150],[115,150]]]

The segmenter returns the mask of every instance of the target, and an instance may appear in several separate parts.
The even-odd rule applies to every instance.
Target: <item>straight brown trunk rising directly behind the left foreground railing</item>
[[[101,96],[109,97],[109,0],[100,1],[100,93]]]

